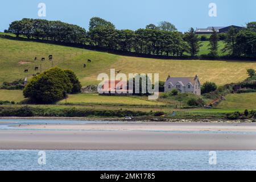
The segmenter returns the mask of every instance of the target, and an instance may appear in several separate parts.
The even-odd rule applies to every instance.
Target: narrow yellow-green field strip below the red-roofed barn
[[[135,96],[99,96],[98,94],[81,93],[69,95],[67,98],[68,104],[93,104],[93,105],[146,105],[160,106],[164,105],[161,102],[148,101],[147,97]],[[65,104],[65,100],[57,104]]]

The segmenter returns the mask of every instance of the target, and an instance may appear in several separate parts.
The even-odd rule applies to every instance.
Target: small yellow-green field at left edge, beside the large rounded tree
[[[22,90],[0,90],[0,101],[23,101]]]

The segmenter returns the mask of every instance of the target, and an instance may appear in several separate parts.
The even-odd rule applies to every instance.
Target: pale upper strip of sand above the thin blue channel
[[[23,125],[21,129],[129,131],[255,131],[256,123],[123,122],[81,125]]]

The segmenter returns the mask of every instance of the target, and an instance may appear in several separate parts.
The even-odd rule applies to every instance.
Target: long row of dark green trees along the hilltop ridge
[[[84,44],[106,48],[113,51],[135,52],[160,56],[198,56],[201,39],[196,31],[190,28],[182,33],[170,22],[148,24],[146,28],[117,30],[114,24],[105,19],[93,17],[89,22],[89,31],[79,26],[43,19],[22,19],[10,24],[9,30],[16,36],[28,39],[53,40],[63,43]],[[224,40],[225,47],[220,49],[219,41]],[[220,51],[229,56],[256,56],[256,22],[247,23],[242,30],[230,28],[225,35],[213,34],[209,38],[209,55],[218,57]]]

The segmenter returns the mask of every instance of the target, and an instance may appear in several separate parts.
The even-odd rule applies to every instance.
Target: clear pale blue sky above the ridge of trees
[[[137,30],[166,20],[179,31],[189,27],[228,26],[256,21],[255,0],[9,0],[0,4],[0,31],[22,18],[39,18],[38,4],[45,3],[48,20],[77,24],[88,30],[89,19],[99,16],[118,29]],[[217,17],[208,15],[209,3],[216,3]]]

